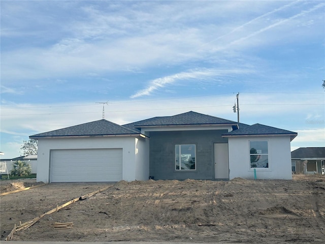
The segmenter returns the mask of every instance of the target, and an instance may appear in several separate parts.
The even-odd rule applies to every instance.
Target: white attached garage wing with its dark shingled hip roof
[[[149,138],[140,130],[101,119],[30,138],[38,140],[38,182],[149,178]]]

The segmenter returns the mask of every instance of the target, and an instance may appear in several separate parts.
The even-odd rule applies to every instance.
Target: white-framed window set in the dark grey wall
[[[176,170],[195,170],[196,169],[196,146],[194,144],[176,145],[175,165],[176,165]]]

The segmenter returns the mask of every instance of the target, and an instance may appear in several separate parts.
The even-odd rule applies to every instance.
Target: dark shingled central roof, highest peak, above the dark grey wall
[[[189,111],[174,116],[154,117],[133,123],[136,128],[181,125],[237,125],[237,122]]]

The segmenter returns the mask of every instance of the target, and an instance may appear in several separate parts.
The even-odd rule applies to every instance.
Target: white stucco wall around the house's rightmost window
[[[289,136],[229,138],[230,179],[254,178],[254,170],[250,168],[250,140],[269,142],[269,168],[256,168],[257,179],[292,179]]]

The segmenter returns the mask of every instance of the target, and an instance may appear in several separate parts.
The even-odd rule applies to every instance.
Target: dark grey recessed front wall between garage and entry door
[[[213,143],[227,143],[225,130],[151,131],[150,176],[154,179],[214,179]],[[175,145],[196,145],[196,170],[175,169]]]

